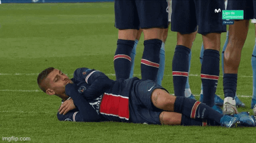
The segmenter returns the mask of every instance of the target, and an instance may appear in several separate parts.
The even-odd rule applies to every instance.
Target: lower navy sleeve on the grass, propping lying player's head
[[[82,97],[75,84],[69,83],[65,87],[66,94],[70,96],[78,111],[70,111],[66,115],[57,114],[60,121],[84,121],[84,122],[96,122],[100,121],[100,115],[90,105],[90,103]]]

